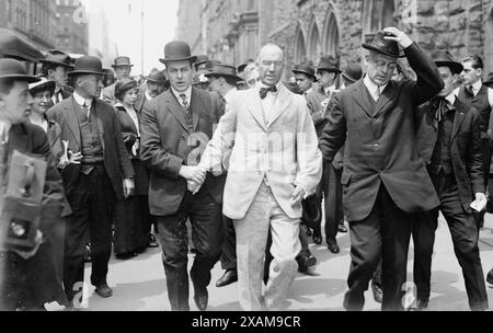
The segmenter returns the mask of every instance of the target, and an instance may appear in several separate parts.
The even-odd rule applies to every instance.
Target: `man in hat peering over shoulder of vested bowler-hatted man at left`
[[[51,96],[50,107],[70,97],[73,89],[69,85],[68,72],[73,69],[71,58],[68,54],[49,49],[43,64],[42,74],[49,81],[56,83],[55,92]]]

